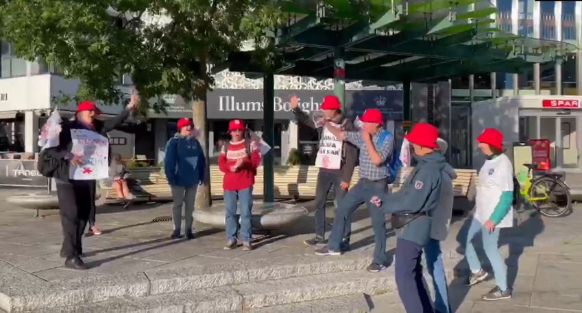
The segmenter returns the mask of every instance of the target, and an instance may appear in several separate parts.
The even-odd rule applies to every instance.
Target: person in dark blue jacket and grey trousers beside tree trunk
[[[176,126],[178,133],[168,140],[164,159],[164,171],[173,200],[174,225],[171,239],[182,237],[182,207],[184,208],[184,234],[186,234],[186,239],[194,239],[192,214],[198,186],[204,184],[206,159],[202,145],[193,136],[192,122],[187,118],[181,118]]]

